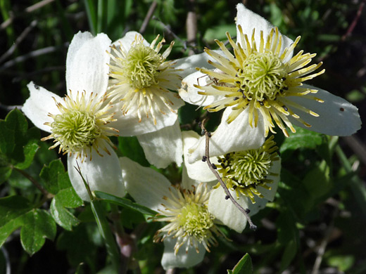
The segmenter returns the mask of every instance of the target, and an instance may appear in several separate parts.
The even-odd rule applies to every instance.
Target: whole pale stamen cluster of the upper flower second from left
[[[124,115],[127,115],[127,112],[137,112],[141,122],[142,111],[147,118],[149,115],[153,117],[154,124],[156,112],[176,112],[172,108],[172,96],[177,97],[177,94],[170,90],[177,90],[181,81],[178,70],[172,67],[175,63],[165,61],[174,42],[164,53],[159,53],[165,40],[162,39],[156,45],[157,41],[158,37],[150,46],[145,46],[141,35],[137,35],[128,51],[120,43],[119,46],[111,46],[109,53],[111,79],[108,84],[108,97],[112,101],[122,100],[121,110]]]

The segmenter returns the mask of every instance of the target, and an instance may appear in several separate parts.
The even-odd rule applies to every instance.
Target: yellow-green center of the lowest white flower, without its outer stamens
[[[191,202],[182,207],[179,216],[179,226],[182,226],[189,236],[202,239],[206,237],[210,228],[213,227],[213,219],[214,217],[208,212],[207,207]]]

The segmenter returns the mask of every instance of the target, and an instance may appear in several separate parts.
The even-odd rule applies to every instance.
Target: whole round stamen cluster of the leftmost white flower
[[[51,126],[51,135],[42,138],[42,141],[54,139],[55,144],[50,149],[59,145],[59,153],[75,153],[82,162],[85,157],[92,159],[92,150],[99,155],[99,149],[110,154],[106,144],[113,146],[113,143],[108,136],[116,135],[118,130],[108,126],[115,119],[109,111],[111,104],[104,103],[105,97],[98,99],[97,94],[91,93],[88,97],[85,92],[77,92],[77,96],[73,98],[70,91],[70,96],[65,96],[63,103],[54,100],[61,113],[49,113],[53,122],[46,124]]]

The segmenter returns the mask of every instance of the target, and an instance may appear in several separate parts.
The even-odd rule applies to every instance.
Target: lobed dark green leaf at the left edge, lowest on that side
[[[44,244],[44,239],[53,240],[56,223],[43,209],[32,209],[27,199],[9,196],[0,199],[0,246],[14,230],[21,228],[20,240],[23,249],[32,255]]]

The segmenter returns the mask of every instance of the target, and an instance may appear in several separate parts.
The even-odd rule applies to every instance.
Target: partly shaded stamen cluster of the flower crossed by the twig
[[[273,141],[273,135],[258,148],[258,150],[244,150],[231,152],[218,157],[220,166],[217,171],[222,175],[222,180],[230,190],[235,190],[236,196],[245,195],[255,203],[255,195],[263,197],[258,191],[260,186],[270,190],[273,180],[267,176],[278,176],[270,171],[274,161],[279,159],[277,146]],[[216,187],[219,187],[218,183]]]

